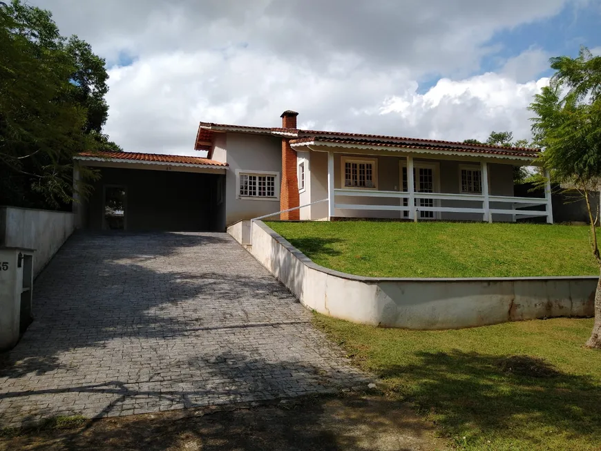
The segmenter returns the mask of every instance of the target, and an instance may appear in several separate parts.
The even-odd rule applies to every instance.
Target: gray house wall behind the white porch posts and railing
[[[353,154],[334,154],[334,187],[341,189],[342,183],[342,167],[341,158],[343,156],[358,157],[360,155]],[[391,156],[376,156],[369,157],[377,160],[378,164],[378,182],[376,188],[378,191],[401,191],[401,163],[406,162],[405,157]],[[327,198],[327,153],[311,152],[311,175],[310,175],[310,190],[311,201]],[[459,166],[468,162],[457,162],[452,160],[426,160],[414,159],[414,164],[428,163],[436,164],[439,180],[439,192],[458,194],[460,192],[460,173]],[[488,174],[490,179],[489,193],[490,195],[507,195],[513,196],[513,166],[511,164],[488,164]],[[341,204],[369,204],[369,205],[399,205],[402,202],[399,199],[390,198],[353,198],[350,196],[340,196],[336,198],[336,203]],[[479,208],[480,202],[465,202],[465,201],[439,201],[441,207],[464,207],[464,208]],[[491,203],[491,208],[508,208],[508,204]],[[327,203],[318,204],[311,207],[311,219],[327,218]],[[371,210],[341,210],[334,211],[336,217],[341,218],[403,218],[403,212],[400,211],[371,211]],[[482,220],[481,215],[474,213],[439,213],[439,218],[442,220]],[[493,215],[495,221],[511,221],[511,215]]]

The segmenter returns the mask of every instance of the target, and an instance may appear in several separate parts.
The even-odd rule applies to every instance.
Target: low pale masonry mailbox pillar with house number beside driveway
[[[0,351],[15,346],[32,321],[33,254],[0,247]]]

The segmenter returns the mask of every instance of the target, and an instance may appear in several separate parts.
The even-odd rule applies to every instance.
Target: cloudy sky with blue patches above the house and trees
[[[105,131],[193,153],[199,121],[530,137],[548,58],[601,53],[601,0],[29,0],[106,59]]]

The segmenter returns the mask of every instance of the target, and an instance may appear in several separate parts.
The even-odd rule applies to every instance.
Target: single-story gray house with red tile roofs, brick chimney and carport
[[[537,149],[301,130],[297,115],[285,111],[279,127],[200,122],[202,157],[79,155],[75,180],[79,166],[102,177],[74,204],[78,227],[223,231],[279,211],[284,220],[553,222],[550,193],[514,195],[513,168],[536,164]]]

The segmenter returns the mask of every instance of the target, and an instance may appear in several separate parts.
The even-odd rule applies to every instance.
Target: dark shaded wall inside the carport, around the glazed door
[[[82,227],[102,230],[104,186],[126,186],[126,230],[128,231],[224,231],[225,205],[218,204],[217,185],[224,175],[146,171],[141,169],[99,169],[102,177],[94,183],[88,199],[86,222]]]

